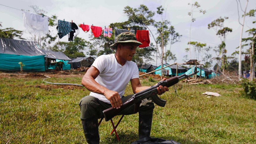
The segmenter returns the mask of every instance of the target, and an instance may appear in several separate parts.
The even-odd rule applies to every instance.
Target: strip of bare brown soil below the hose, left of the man
[[[72,86],[72,85],[36,85],[36,86],[27,86],[27,87],[36,87],[36,88],[42,88],[46,90],[52,90],[56,88],[63,88],[68,90],[74,90],[74,89],[84,89],[82,86]],[[85,90],[85,89],[84,89]]]

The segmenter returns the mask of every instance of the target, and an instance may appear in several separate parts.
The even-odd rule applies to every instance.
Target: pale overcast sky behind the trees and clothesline
[[[246,0],[240,1],[244,10]],[[163,8],[166,9],[165,19],[169,20],[176,31],[183,35],[180,42],[171,46],[171,51],[176,54],[177,62],[182,63],[185,55],[188,55],[189,58],[189,53],[185,52],[185,48],[188,48],[187,42],[189,41],[189,27],[191,22],[191,18],[188,15],[191,7],[188,3],[194,2],[194,0],[10,0],[1,1],[0,4],[17,9],[30,10],[31,12],[33,12],[33,10],[29,6],[37,5],[40,9],[44,9],[48,12],[46,15],[56,15],[60,20],[73,20],[75,23],[85,23],[88,25],[93,24],[94,26],[101,26],[102,28],[104,26],[108,26],[110,23],[126,21],[128,18],[123,13],[124,7],[126,6],[137,8],[140,4],[144,4],[149,8],[149,10],[156,11],[157,7],[162,5]],[[192,23],[191,41],[206,43],[207,46],[212,47],[219,45],[221,42],[219,37],[217,37],[216,32],[213,29],[208,29],[208,24],[220,16],[229,17],[229,19],[225,20],[225,26],[233,29],[233,32],[227,35],[226,49],[227,56],[231,56],[231,53],[238,50],[236,47],[239,46],[239,37],[241,33],[241,25],[238,23],[236,0],[197,0],[197,2],[201,5],[201,9],[206,10],[206,13],[204,15],[198,12],[193,14],[196,20]],[[246,11],[248,12],[255,8],[256,1],[249,0]],[[12,27],[20,31],[25,31],[22,11],[0,5],[0,15],[0,22],[2,22],[3,26],[2,28]],[[240,11],[240,17],[241,15],[242,12]],[[155,19],[160,20],[158,15],[155,16]],[[252,24],[252,21],[255,19],[256,17],[246,17],[243,37],[248,37],[248,34],[245,33],[246,30],[255,27],[256,24]],[[242,18],[240,18],[240,21],[242,22]],[[151,30],[154,34],[156,33],[155,28],[151,28]],[[55,32],[57,33],[57,31]],[[89,41],[89,35],[90,32],[84,33],[82,29],[80,29],[78,37]],[[30,34],[24,33],[23,37],[28,39]],[[60,41],[67,40],[67,35],[60,39]],[[152,37],[151,42],[154,42]],[[170,45],[167,45],[167,49],[169,48]],[[209,53],[214,57],[216,56],[213,51],[210,51]],[[194,58],[193,53],[192,58]],[[173,61],[169,61],[168,63],[171,64]],[[151,62],[151,64],[157,66],[160,65],[160,59],[157,61],[157,64],[156,61]]]

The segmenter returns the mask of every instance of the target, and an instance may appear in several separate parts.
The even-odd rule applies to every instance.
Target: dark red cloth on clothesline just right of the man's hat
[[[139,45],[139,48],[146,48],[149,46],[150,39],[149,32],[147,30],[137,30],[136,39],[142,43],[142,45]]]

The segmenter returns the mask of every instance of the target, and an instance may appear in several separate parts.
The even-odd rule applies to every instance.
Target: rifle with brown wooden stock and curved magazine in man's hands
[[[127,100],[126,102],[124,102],[122,104],[122,106],[119,109],[115,109],[113,107],[110,107],[106,110],[103,110],[103,114],[105,117],[105,121],[109,121],[111,118],[113,118],[114,116],[116,116],[118,113],[120,113],[121,111],[123,111],[124,109],[126,109],[127,107],[129,107],[130,105],[133,104],[138,104],[139,102],[141,102],[141,100],[143,99],[151,99],[156,105],[160,106],[160,107],[164,107],[166,101],[163,99],[160,99],[157,96],[157,88],[161,85],[161,86],[166,86],[166,87],[170,87],[175,85],[176,83],[178,83],[180,80],[183,80],[187,77],[191,77],[192,75],[197,74],[197,67],[195,68],[194,73],[190,74],[190,75],[179,75],[179,76],[175,76],[172,78],[169,78],[167,80],[163,80],[163,81],[159,81],[157,83],[157,85],[155,86],[151,86],[148,89],[145,89],[143,91],[140,91],[136,94],[134,94],[129,100]]]

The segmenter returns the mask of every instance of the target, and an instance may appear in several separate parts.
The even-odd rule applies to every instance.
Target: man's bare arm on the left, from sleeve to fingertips
[[[82,85],[91,92],[104,95],[106,99],[110,101],[113,108],[120,108],[122,101],[118,92],[111,91],[104,86],[99,85],[99,83],[94,80],[98,75],[99,70],[91,66],[82,78]]]

